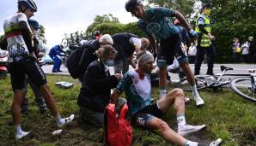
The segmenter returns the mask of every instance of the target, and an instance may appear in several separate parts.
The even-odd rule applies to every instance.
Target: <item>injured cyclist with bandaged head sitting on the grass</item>
[[[150,130],[158,130],[162,137],[168,143],[178,145],[197,146],[201,143],[192,142],[182,137],[186,134],[202,130],[202,126],[190,126],[186,124],[185,119],[185,99],[184,92],[181,89],[169,91],[155,103],[151,103],[151,85],[149,73],[151,73],[154,63],[154,57],[149,51],[141,51],[137,54],[137,67],[125,73],[124,78],[120,80],[119,85],[113,91],[111,100],[117,103],[119,95],[125,91],[128,98],[129,113],[131,122],[137,126]],[[162,114],[168,112],[170,107],[174,107],[178,121],[178,133],[172,130],[168,124],[161,120]],[[210,143],[210,146],[219,145],[222,139]]]

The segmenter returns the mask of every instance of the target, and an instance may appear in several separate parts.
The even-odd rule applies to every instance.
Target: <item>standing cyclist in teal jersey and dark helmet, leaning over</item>
[[[149,42],[154,55],[157,53],[155,37],[160,40],[160,49],[157,53],[157,66],[160,68],[159,87],[161,96],[166,95],[167,67],[174,61],[175,55],[180,62],[180,67],[182,67],[186,74],[188,82],[192,85],[193,98],[197,106],[203,105],[204,100],[198,94],[194,75],[188,64],[186,50],[184,45],[182,45],[179,29],[168,19],[168,17],[176,17],[189,30],[192,37],[197,37],[197,33],[192,30],[192,27],[187,23],[184,16],[176,10],[165,8],[144,9],[143,3],[140,0],[128,0],[125,3],[125,9],[139,19],[137,25],[149,36]]]

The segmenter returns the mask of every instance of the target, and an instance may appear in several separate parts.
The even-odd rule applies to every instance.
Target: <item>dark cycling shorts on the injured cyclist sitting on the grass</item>
[[[157,108],[156,103],[142,108],[136,114],[133,114],[131,117],[131,122],[132,124],[135,124],[137,126],[149,129],[149,121],[152,120],[152,118],[154,117],[162,117],[162,111]]]

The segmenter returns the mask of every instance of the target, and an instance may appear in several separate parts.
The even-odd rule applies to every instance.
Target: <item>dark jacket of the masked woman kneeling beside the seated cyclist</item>
[[[91,62],[82,81],[77,104],[94,112],[103,113],[110,102],[110,91],[118,83],[114,75],[110,76],[109,71],[105,71],[100,59]]]

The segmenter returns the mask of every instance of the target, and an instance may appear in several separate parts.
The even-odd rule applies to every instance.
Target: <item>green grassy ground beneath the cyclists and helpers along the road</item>
[[[60,114],[63,116],[77,114],[76,97],[80,88],[79,82],[64,76],[48,76],[47,79]],[[68,81],[75,86],[68,90],[60,89],[54,85],[58,81]],[[102,129],[94,129],[76,121],[65,126],[62,135],[52,136],[52,131],[58,130],[58,127],[49,112],[40,114],[30,89],[29,115],[22,115],[21,119],[23,130],[32,133],[20,141],[15,141],[15,128],[9,110],[13,99],[9,77],[0,80],[0,87],[0,145],[102,145]],[[152,93],[156,97],[158,90],[153,88]],[[212,139],[221,137],[222,145],[256,145],[255,103],[247,102],[229,89],[201,91],[200,94],[205,101],[204,107],[197,108],[194,102],[187,104],[186,121],[192,125],[206,124],[207,129],[187,138],[208,143]],[[191,96],[191,93],[186,93],[186,96]],[[176,130],[177,123],[172,110],[163,118]],[[133,135],[134,145],[170,145],[157,132],[134,128]]]

